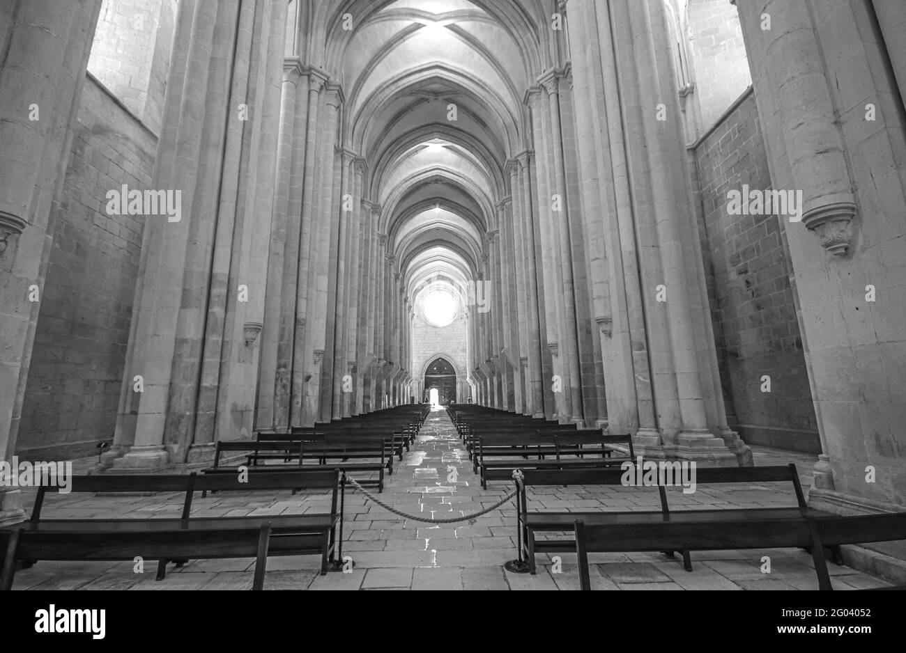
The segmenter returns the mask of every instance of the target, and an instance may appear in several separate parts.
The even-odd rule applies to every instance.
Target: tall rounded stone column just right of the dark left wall
[[[200,219],[192,203],[198,185],[205,107],[217,4],[184,3],[179,7],[178,31],[190,30],[184,71],[171,69],[164,100],[161,134],[154,167],[154,187],[181,194],[179,222],[149,217],[142,240],[140,281],[132,314],[133,345],[123,377],[120,418],[115,443],[130,446],[115,461],[117,467],[156,468],[169,461],[164,448],[169,385],[175,354],[174,334],[181,306],[183,272],[193,220]],[[176,43],[184,43],[178,33]],[[143,380],[143,392],[133,392],[133,378]]]

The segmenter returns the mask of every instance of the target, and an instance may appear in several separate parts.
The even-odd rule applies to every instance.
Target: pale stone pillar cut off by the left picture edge
[[[52,213],[100,11],[100,0],[21,2],[0,24],[0,460],[16,449]],[[0,487],[0,525],[23,518],[19,490]]]

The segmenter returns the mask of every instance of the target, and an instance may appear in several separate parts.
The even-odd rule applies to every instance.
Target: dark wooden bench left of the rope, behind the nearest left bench
[[[265,523],[271,525],[271,555],[319,554],[322,557],[321,573],[327,573],[328,563],[333,562],[334,549],[339,540],[336,529],[339,525],[342,538],[342,506],[338,506],[340,472],[328,469],[296,468],[270,474],[249,474],[240,480],[236,474],[213,476],[188,475],[144,475],[144,476],[76,476],[72,478],[72,492],[146,494],[178,492],[182,495],[182,510],[177,517],[156,517],[153,519],[45,519],[42,516],[43,502],[48,489],[42,484],[35,497],[32,518],[23,527],[26,531],[105,532],[110,528],[166,529],[180,528],[190,532],[204,533],[207,530],[257,528]],[[53,486],[55,487],[55,486]],[[192,501],[195,493],[211,491],[259,491],[298,489],[325,489],[332,494],[329,512],[305,515],[244,516],[244,517],[193,517]],[[342,501],[342,497],[340,497]],[[40,558],[34,558],[38,560]],[[173,560],[184,563],[177,557],[161,560],[158,580],[166,573],[166,563]],[[30,564],[26,563],[26,566]]]

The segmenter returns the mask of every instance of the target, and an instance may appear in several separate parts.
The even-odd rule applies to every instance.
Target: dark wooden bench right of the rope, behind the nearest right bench
[[[664,486],[657,487],[660,499],[660,511],[638,512],[529,512],[526,507],[525,487],[529,486],[574,486],[574,485],[605,485],[623,486],[624,472],[616,468],[579,468],[579,469],[530,469],[523,472],[525,484],[520,498],[521,517],[517,520],[518,527],[522,528],[525,554],[528,558],[529,569],[535,573],[535,552],[539,553],[564,553],[574,550],[573,539],[556,539],[542,542],[535,541],[535,534],[539,532],[569,533],[573,530],[573,521],[582,520],[586,525],[607,524],[659,524],[671,520],[675,516],[689,516],[696,514],[701,519],[709,519],[716,523],[739,519],[765,518],[775,521],[797,519],[802,515],[829,516],[830,513],[814,510],[805,504],[805,496],[795,465],[777,467],[747,467],[747,468],[697,468],[697,486],[720,483],[769,483],[790,482],[793,484],[796,497],[796,506],[772,508],[731,508],[727,510],[682,510],[670,511],[668,495]],[[640,487],[640,486],[632,486]],[[745,516],[743,516],[745,514]],[[687,518],[687,517],[684,517]],[[628,548],[626,551],[637,551]],[[665,547],[660,549],[665,554],[679,552],[682,554],[683,566],[686,571],[692,571],[689,551],[681,548]],[[832,548],[834,561],[842,563],[839,548]]]

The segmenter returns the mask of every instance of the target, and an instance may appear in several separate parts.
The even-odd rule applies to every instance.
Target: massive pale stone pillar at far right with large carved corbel
[[[891,364],[906,340],[906,16],[871,6],[877,24],[867,3],[737,4],[772,185],[804,199],[803,221],[780,224],[823,450],[809,504],[844,514],[906,504],[906,367]]]

